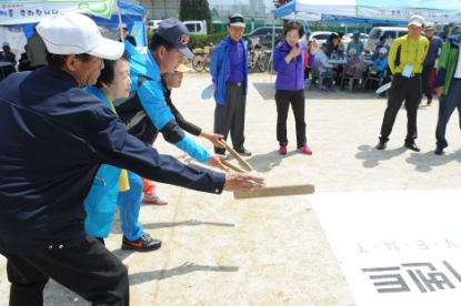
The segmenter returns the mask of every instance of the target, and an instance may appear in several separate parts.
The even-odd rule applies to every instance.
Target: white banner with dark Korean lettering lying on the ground
[[[461,191],[308,198],[359,306],[460,305]]]

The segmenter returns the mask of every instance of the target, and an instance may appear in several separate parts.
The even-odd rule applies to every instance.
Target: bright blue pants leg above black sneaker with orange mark
[[[136,241],[144,234],[142,225],[138,221],[142,201],[142,180],[138,174],[130,171],[127,171],[127,173],[130,190],[119,192],[117,206],[120,211],[120,225],[123,235],[129,241]]]

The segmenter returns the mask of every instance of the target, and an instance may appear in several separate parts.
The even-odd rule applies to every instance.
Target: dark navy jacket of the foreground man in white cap
[[[101,164],[197,191],[223,188],[224,174],[189,167],[128,134],[63,70],[13,73],[0,92],[0,252],[38,254],[84,243],[83,201]]]

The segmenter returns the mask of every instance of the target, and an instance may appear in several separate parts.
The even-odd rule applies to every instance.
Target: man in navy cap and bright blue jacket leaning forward
[[[183,57],[193,58],[188,42],[189,31],[177,19],[166,19],[160,23],[146,53],[140,53],[129,41],[126,41],[124,48],[131,54],[129,64],[133,92],[130,101],[139,101],[147,114],[129,129],[129,133],[150,145],[156,141],[157,135],[162,133],[166,141],[199,162],[228,170],[221,163],[223,156],[210,154],[184,134],[163,98],[166,89],[161,85],[161,74],[173,73],[182,63]],[[130,101],[126,103],[130,104]],[[121,114],[120,111],[118,113]],[[141,252],[157,249],[161,242],[146,234],[138,221],[142,195],[142,193],[138,194],[138,191],[142,191],[141,177],[128,172],[128,178],[130,186],[137,187],[119,194],[118,207],[124,221],[122,248]]]

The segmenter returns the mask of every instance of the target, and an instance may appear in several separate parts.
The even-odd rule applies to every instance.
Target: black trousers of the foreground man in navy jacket
[[[79,247],[7,257],[10,306],[43,305],[49,277],[92,305],[129,305],[128,271],[104,245],[89,236]]]

